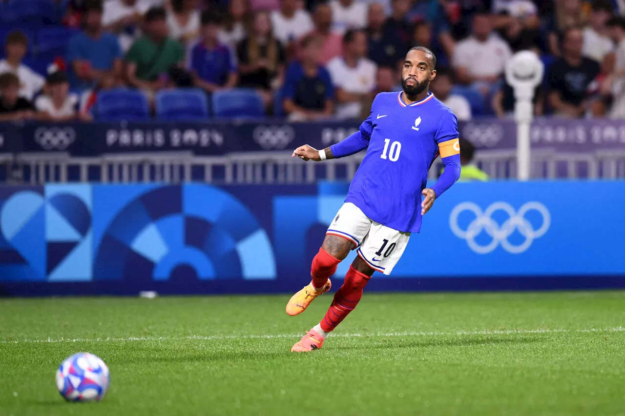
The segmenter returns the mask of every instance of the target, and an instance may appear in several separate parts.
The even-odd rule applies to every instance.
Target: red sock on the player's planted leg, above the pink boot
[[[358,304],[362,297],[362,290],[371,277],[354,269],[351,265],[345,275],[345,282],[334,294],[334,300],[321,320],[321,329],[330,332]]]

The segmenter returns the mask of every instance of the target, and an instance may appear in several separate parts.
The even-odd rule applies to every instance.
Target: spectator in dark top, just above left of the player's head
[[[407,44],[397,36],[396,30],[385,26],[384,10],[379,3],[369,4],[369,25],[367,26],[367,39],[369,39],[369,59],[380,66],[396,66],[397,62],[404,59]]]

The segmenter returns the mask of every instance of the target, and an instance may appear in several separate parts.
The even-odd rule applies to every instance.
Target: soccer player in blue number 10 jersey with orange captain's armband
[[[402,69],[403,91],[377,94],[359,131],[326,149],[305,145],[293,152],[292,157],[319,162],[367,149],[345,203],[312,259],[312,281],[291,297],[286,313],[304,312],[330,289],[329,277],[350,250],[356,249],[358,255],[325,317],[291,351],[321,348],[327,335],[356,307],[373,272],[391,274],[411,233],[421,229],[422,215],[460,176],[456,116],[428,91],[435,68],[432,51],[413,47]],[[427,171],[439,154],[444,172],[433,187],[426,188]]]

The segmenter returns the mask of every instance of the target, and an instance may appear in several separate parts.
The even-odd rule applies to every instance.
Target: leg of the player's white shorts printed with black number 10
[[[373,270],[389,275],[404,254],[409,232],[400,232],[374,222],[358,247],[358,256]]]

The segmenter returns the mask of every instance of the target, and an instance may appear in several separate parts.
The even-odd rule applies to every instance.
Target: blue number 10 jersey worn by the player
[[[371,114],[362,122],[357,135],[361,149],[367,147],[367,154],[356,171],[345,202],[351,202],[369,219],[387,227],[419,232],[421,192],[436,157],[440,154],[444,162],[453,159],[457,176],[460,173],[456,116],[431,93],[407,106],[401,92],[382,92],[374,99]],[[346,151],[342,143],[332,146],[334,156],[354,153]],[[457,176],[450,174],[449,186]],[[434,191],[439,196],[449,186],[439,191],[434,187]]]

